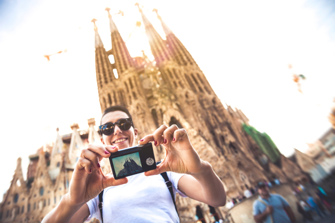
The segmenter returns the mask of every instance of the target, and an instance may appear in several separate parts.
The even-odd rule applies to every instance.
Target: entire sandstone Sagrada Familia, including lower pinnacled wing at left
[[[258,140],[254,134],[252,137],[250,131],[254,129],[241,110],[221,103],[200,67],[157,10],[153,9],[165,39],[139,6],[138,10],[154,61],[144,53],[140,57],[130,56],[109,8],[106,11],[111,49],[104,48],[96,20],[92,20],[101,111],[110,105],[127,105],[139,138],[152,133],[161,124],[185,128],[199,156],[211,163],[222,180],[228,200],[242,195],[246,188],[254,187],[260,180],[278,178],[287,183],[308,180],[300,167],[280,154],[275,146],[265,143],[265,139],[258,137]],[[113,63],[109,55],[113,55]],[[23,179],[21,158],[17,159],[10,187],[0,204],[0,222],[40,222],[58,204],[67,192],[80,150],[89,143],[101,143],[94,125],[94,119],[88,119],[89,127],[83,130],[78,130],[78,124],[72,124],[72,133],[65,135],[59,135],[57,129],[52,145],[43,146],[29,156],[26,180]],[[153,147],[156,160],[163,158],[164,149]],[[105,173],[110,172],[108,160],[101,165]],[[194,216],[199,211],[205,221],[213,214],[225,217],[225,207],[212,208],[180,196],[176,197],[176,203],[180,222],[195,222]]]

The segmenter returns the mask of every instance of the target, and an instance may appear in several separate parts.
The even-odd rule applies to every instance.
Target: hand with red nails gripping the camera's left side
[[[82,205],[96,197],[104,188],[124,184],[127,178],[114,179],[112,174],[103,174],[99,161],[116,152],[117,146],[88,145],[82,149],[69,185],[71,205]]]

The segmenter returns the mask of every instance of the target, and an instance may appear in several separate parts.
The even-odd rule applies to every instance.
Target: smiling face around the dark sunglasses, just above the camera
[[[107,122],[115,123],[119,119],[127,118],[128,115],[123,111],[116,110],[106,113],[101,118],[101,124],[105,124]],[[127,148],[135,145],[135,139],[137,138],[137,128],[133,128],[132,126],[126,130],[122,131],[117,124],[114,126],[114,132],[111,135],[102,134],[101,141],[105,145],[116,145],[119,149]]]

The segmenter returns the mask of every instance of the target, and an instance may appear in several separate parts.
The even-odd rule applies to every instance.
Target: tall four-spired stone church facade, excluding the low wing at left
[[[138,128],[139,138],[151,134],[161,124],[185,128],[200,157],[211,163],[222,179],[228,198],[243,194],[245,188],[260,180],[268,180],[273,173],[264,170],[253,152],[257,149],[256,143],[242,130],[241,122],[247,118],[240,110],[223,106],[191,54],[157,10],[153,9],[166,40],[154,29],[139,4],[135,5],[141,14],[154,61],[144,52],[142,57],[130,56],[109,8],[105,10],[111,33],[110,50],[104,49],[96,20],[92,20],[101,111],[110,105],[126,105]],[[112,64],[109,55],[114,57]],[[115,70],[117,75],[114,75]],[[163,158],[163,148],[153,147],[156,159]],[[281,172],[275,165],[271,168],[276,168],[278,174]],[[176,202],[181,210],[181,222],[193,219],[196,206],[208,209],[207,205],[189,198],[177,197]]]

